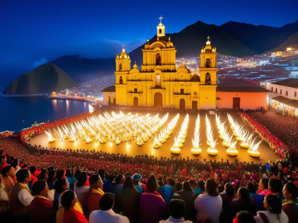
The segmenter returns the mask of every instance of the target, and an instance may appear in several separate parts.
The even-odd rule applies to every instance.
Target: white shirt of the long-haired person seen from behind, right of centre
[[[223,201],[221,196],[212,197],[207,193],[200,194],[195,199],[195,210],[197,210],[197,220],[201,220],[201,216],[209,217],[213,223],[219,223],[219,216]]]

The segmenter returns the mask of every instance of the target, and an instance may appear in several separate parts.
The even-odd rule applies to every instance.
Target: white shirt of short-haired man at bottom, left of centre
[[[109,223],[129,223],[126,216],[116,214],[112,209],[108,211],[92,211],[89,216],[89,223],[109,222]]]

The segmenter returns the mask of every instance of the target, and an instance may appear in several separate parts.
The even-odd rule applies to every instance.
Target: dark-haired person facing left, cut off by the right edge
[[[289,218],[289,223],[297,222],[298,220],[298,188],[292,183],[288,182],[283,186],[283,197],[282,201],[283,211]]]

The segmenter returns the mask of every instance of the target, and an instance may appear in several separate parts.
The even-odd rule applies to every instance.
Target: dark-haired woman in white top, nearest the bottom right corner
[[[254,220],[257,223],[288,223],[289,219],[282,210],[282,203],[280,199],[272,194],[269,194],[264,199],[264,207],[266,211],[258,211]]]

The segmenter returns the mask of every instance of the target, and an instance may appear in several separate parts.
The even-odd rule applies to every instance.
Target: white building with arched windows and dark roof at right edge
[[[288,99],[298,100],[298,79],[288,78],[282,81],[267,83],[266,88],[269,91],[279,94]]]

